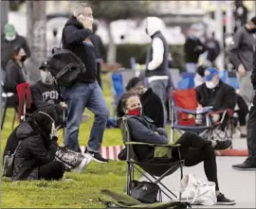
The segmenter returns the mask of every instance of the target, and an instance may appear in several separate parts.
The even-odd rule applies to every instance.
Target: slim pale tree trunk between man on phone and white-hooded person
[[[111,30],[111,22],[106,23],[107,34],[108,34],[108,50],[107,50],[107,62],[113,63],[117,60],[117,46],[114,42],[113,33]]]

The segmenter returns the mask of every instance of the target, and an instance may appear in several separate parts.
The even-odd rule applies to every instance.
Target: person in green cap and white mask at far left
[[[15,47],[22,47],[25,50],[26,58],[30,57],[31,52],[26,38],[18,35],[13,25],[7,24],[1,39],[1,67],[4,71],[6,71],[7,63],[11,59],[11,53]]]

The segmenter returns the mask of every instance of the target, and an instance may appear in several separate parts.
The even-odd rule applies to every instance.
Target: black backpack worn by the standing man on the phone
[[[84,63],[75,53],[57,47],[52,49],[49,68],[51,75],[64,87],[72,86],[86,71]]]

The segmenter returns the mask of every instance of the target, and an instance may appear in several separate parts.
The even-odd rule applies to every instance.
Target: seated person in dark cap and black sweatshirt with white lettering
[[[49,71],[49,62],[44,61],[39,67],[41,78],[30,85],[33,99],[32,112],[50,106],[58,113],[56,126],[64,123],[64,100],[61,97],[59,86]]]

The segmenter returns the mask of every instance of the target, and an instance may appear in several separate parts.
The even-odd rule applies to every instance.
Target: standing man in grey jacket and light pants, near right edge
[[[233,42],[229,48],[229,59],[237,69],[240,77],[241,96],[250,104],[253,89],[250,82],[251,71],[253,68],[253,51],[256,45],[256,16],[253,17],[245,26],[240,27],[233,37]]]

